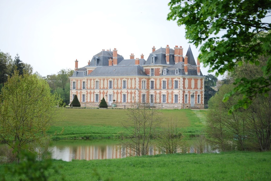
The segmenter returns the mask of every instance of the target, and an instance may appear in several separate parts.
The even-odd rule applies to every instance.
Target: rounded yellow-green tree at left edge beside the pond
[[[19,71],[2,88],[0,140],[19,153],[28,144],[40,141],[58,118],[59,98],[50,93],[46,81]],[[19,160],[17,160],[19,162]]]

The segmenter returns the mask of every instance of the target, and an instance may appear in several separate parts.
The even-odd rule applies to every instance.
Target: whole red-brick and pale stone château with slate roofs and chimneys
[[[116,48],[103,49],[83,68],[75,61],[70,85],[70,102],[77,95],[89,107],[97,107],[104,97],[116,107],[148,103],[162,109],[204,108],[204,76],[190,46],[185,56],[181,46],[153,47],[147,60],[143,54],[124,59]]]

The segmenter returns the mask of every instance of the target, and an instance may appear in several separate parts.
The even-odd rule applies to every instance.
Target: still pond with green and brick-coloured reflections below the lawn
[[[189,140],[189,144],[192,146],[188,148],[187,153],[198,152],[194,141],[193,139]],[[4,154],[4,147],[0,145],[0,156]],[[204,151],[207,152],[207,149]],[[53,159],[64,161],[125,158],[132,154],[131,151],[119,144],[119,140],[109,139],[51,141],[50,152]],[[150,147],[148,154],[161,154],[161,151]]]

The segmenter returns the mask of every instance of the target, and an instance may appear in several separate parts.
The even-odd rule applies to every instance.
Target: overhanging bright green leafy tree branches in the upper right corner
[[[259,56],[271,55],[270,0],[171,0],[168,20],[185,25],[185,37],[200,47],[199,59],[216,75],[232,71],[236,64],[259,64]],[[271,85],[271,57],[262,66],[263,76],[242,77],[229,96],[243,94],[231,110],[247,107],[257,94],[265,94]],[[266,94],[267,96],[267,94]]]

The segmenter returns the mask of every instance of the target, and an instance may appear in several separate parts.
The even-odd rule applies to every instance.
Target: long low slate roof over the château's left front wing
[[[148,76],[139,65],[119,65],[95,68],[88,76]]]

